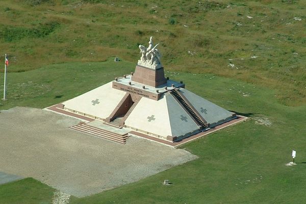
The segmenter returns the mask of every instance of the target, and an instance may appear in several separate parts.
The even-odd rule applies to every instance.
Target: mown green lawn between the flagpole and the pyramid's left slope
[[[46,65],[27,72],[8,73],[7,101],[0,109],[15,106],[44,108],[85,93],[133,71],[126,61],[74,62]],[[3,82],[3,75],[1,76]],[[2,86],[3,88],[3,86]],[[0,90],[3,96],[3,90]]]

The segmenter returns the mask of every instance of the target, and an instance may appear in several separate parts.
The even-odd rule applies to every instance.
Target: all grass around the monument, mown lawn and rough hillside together
[[[195,161],[70,203],[304,203],[305,8],[295,0],[1,1],[10,65],[0,110],[44,108],[130,73],[137,45],[154,36],[168,77],[250,119],[182,146]],[[292,149],[298,165],[287,167]],[[53,191],[25,179],[1,185],[0,203],[50,203]]]

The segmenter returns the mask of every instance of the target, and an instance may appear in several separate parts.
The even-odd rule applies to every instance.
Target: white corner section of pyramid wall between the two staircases
[[[170,93],[165,93],[159,100],[142,97],[125,120],[125,125],[163,138],[179,137],[198,129],[197,124]]]

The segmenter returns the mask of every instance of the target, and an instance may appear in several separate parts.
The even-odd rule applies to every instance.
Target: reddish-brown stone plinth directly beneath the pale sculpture
[[[135,73],[132,75],[132,81],[152,87],[158,87],[167,83],[163,67],[151,69],[140,65],[136,65]]]

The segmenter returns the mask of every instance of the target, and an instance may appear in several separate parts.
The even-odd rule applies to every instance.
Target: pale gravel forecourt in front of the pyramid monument
[[[82,197],[196,159],[184,149],[145,139],[130,137],[123,145],[68,128],[79,122],[34,108],[1,111],[0,171]]]

